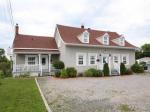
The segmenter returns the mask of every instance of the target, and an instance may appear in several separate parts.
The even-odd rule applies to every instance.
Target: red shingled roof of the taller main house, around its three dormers
[[[77,36],[80,35],[81,33],[83,33],[85,30],[87,30],[90,33],[90,38],[89,38],[90,40],[89,40],[89,43],[86,44],[86,45],[103,45],[96,38],[103,36],[105,33],[108,33],[109,34],[109,46],[119,46],[118,44],[116,44],[112,41],[113,39],[119,38],[121,36],[116,32],[99,31],[99,30],[77,28],[77,27],[70,27],[70,26],[64,26],[64,25],[57,25],[57,28],[59,30],[59,33],[61,35],[62,40],[65,43],[86,44],[86,43],[82,43],[77,38]],[[134,45],[130,44],[127,41],[125,41],[125,46],[123,46],[123,47],[133,47],[133,48],[135,48]]]

